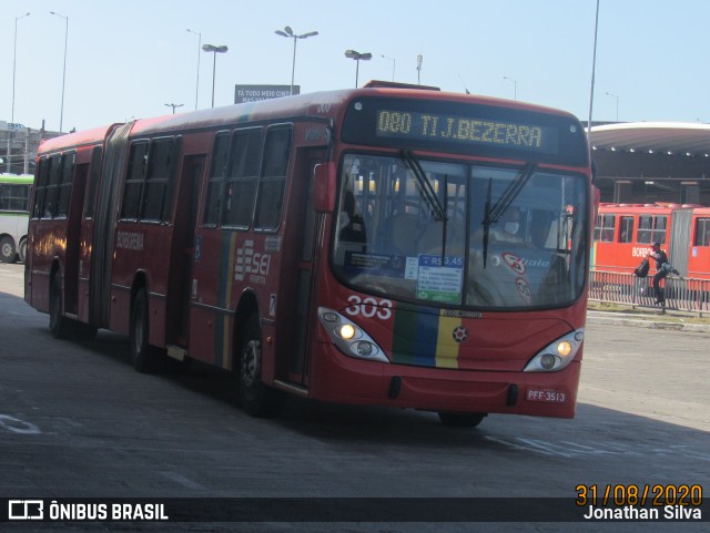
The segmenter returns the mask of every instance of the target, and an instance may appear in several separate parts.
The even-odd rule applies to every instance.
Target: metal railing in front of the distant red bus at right
[[[631,307],[658,307],[653,276],[639,278],[633,274],[591,270],[589,299]],[[663,283],[666,308],[710,315],[710,280],[668,276]]]

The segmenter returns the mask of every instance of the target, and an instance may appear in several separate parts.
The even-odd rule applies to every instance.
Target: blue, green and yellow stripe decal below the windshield
[[[462,332],[460,317],[400,304],[395,312],[392,360],[417,367],[458,368],[459,342],[465,340]]]

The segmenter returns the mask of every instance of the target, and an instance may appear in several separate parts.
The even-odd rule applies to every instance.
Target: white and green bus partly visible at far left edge
[[[28,199],[34,176],[0,174],[0,262],[24,263]]]

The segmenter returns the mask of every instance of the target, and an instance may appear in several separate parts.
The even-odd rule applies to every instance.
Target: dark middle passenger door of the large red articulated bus
[[[189,312],[192,295],[192,260],[195,247],[195,224],[200,202],[201,178],[205,155],[185,156],[175,202],[170,285],[168,289],[168,344],[187,346]]]

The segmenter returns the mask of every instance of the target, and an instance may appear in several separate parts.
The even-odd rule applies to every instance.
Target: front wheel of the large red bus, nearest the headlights
[[[246,322],[239,359],[240,400],[247,414],[272,418],[281,413],[286,393],[267,387],[262,381],[262,335],[258,316]]]

